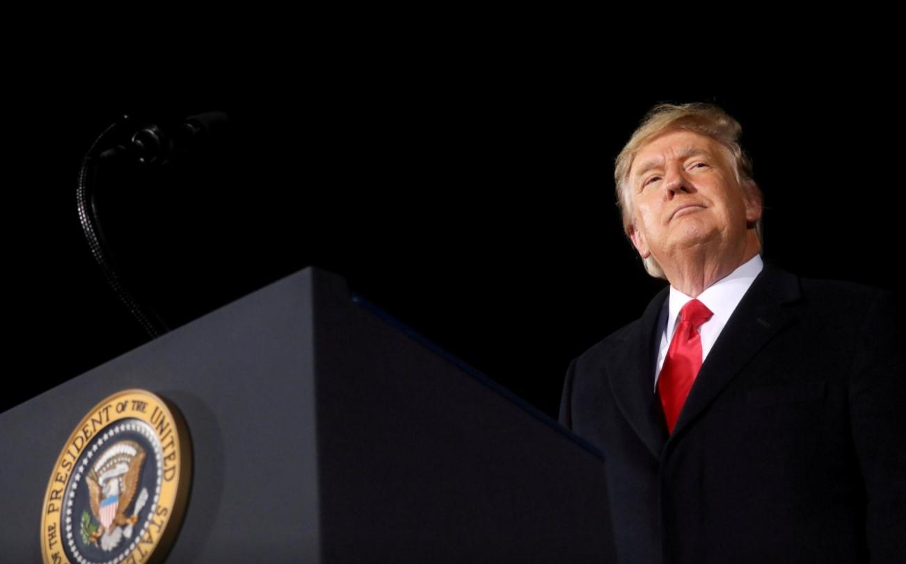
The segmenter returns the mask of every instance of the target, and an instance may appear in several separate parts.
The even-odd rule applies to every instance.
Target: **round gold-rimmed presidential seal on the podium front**
[[[53,467],[41,551],[53,564],[144,564],[176,538],[191,476],[175,409],[140,389],[92,408]]]

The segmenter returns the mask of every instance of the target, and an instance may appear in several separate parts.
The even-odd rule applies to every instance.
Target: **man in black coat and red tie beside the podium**
[[[604,455],[621,562],[906,562],[891,296],[763,263],[737,121],[660,105],[616,163],[670,287],[573,359],[561,422]]]

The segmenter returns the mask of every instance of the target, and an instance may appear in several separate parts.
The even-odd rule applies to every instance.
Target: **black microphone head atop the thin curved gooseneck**
[[[126,121],[129,116],[124,116]],[[150,123],[132,133],[129,141],[101,152],[101,159],[127,158],[140,165],[163,165],[170,158],[186,155],[198,144],[226,129],[229,118],[222,111],[190,116],[174,127]]]

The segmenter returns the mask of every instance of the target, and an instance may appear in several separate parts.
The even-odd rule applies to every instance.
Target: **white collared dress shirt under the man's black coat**
[[[711,319],[699,327],[702,364],[704,364],[705,358],[708,358],[708,352],[714,346],[715,341],[718,340],[720,331],[724,329],[724,325],[727,325],[730,315],[736,310],[737,304],[742,300],[752,282],[755,282],[755,277],[762,268],[764,268],[764,263],[761,261],[761,255],[756,254],[747,263],[743,263],[735,271],[730,272],[718,282],[714,282],[699,295],[698,300],[714,313]],[[667,358],[667,350],[670,349],[670,339],[673,339],[673,331],[678,325],[679,310],[691,299],[690,296],[670,286],[670,298],[664,302],[664,305],[668,306],[666,320],[663,319],[664,315],[661,311],[660,348],[658,349],[658,362],[654,369],[655,391],[658,389],[660,368],[664,366],[664,358]]]

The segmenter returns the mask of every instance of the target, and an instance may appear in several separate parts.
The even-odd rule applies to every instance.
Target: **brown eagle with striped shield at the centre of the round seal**
[[[145,449],[127,440],[111,445],[92,464],[85,481],[94,519],[88,511],[82,514],[82,540],[86,544],[113,550],[123,537],[132,536],[132,526],[148,501],[148,490],[142,488],[131,514],[127,514],[139,488],[144,462]]]

